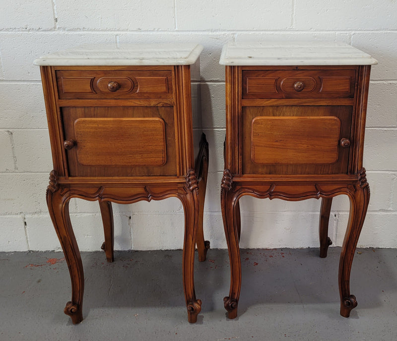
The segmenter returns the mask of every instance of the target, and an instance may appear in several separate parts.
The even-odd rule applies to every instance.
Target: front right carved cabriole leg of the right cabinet
[[[339,260],[340,315],[343,317],[349,317],[350,311],[357,306],[356,297],[350,294],[350,271],[370,197],[365,169],[360,170],[359,181],[350,192],[349,197],[349,223]]]

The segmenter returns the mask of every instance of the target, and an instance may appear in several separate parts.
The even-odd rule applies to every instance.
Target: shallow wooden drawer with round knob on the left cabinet
[[[60,99],[172,98],[171,70],[57,70]]]

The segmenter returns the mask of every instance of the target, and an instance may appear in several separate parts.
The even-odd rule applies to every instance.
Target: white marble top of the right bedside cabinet
[[[378,61],[347,44],[312,42],[229,42],[222,65],[373,65]]]

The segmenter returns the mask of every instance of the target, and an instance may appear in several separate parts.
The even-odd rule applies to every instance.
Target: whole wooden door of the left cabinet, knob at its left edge
[[[174,108],[64,107],[69,176],[176,175]]]

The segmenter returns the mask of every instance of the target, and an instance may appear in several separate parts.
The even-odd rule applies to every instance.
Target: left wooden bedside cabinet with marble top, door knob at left
[[[201,129],[201,51],[195,44],[96,45],[35,60],[54,162],[47,204],[70,272],[72,297],[65,313],[73,323],[82,321],[84,275],[69,219],[71,198],[99,201],[108,262],[113,261],[112,202],[179,198],[185,212],[188,319],[197,320],[195,245],[199,261],[209,248],[202,232],[208,144]]]

